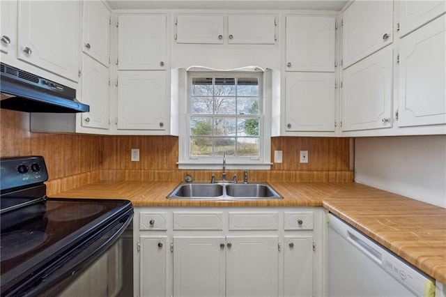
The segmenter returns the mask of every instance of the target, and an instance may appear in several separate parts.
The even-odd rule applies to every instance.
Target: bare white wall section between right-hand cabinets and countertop
[[[356,138],[355,181],[446,208],[446,135]]]

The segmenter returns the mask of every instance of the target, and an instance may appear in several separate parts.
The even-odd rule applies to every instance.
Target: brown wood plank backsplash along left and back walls
[[[49,171],[51,192],[67,190],[98,180],[182,181],[192,174],[207,181],[213,172],[179,170],[178,137],[34,133],[29,114],[0,109],[0,155],[43,155]],[[130,149],[139,148],[140,162],[130,161]],[[283,152],[282,164],[271,170],[249,170],[249,180],[353,181],[350,139],[341,137],[273,137],[274,151]],[[309,162],[299,162],[299,151],[309,151]],[[228,176],[242,170],[227,170]]]

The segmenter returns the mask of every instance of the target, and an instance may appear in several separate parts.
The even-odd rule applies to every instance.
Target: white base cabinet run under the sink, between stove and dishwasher
[[[135,295],[321,296],[323,226],[318,207],[135,207]]]

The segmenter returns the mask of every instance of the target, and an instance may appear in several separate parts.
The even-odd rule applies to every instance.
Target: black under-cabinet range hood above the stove
[[[89,112],[77,102],[76,90],[19,68],[0,63],[0,108],[20,112]]]

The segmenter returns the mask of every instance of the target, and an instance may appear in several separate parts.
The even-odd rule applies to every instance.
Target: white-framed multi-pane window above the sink
[[[264,165],[263,72],[189,71],[186,90],[180,168],[220,166],[224,151],[228,165]]]

